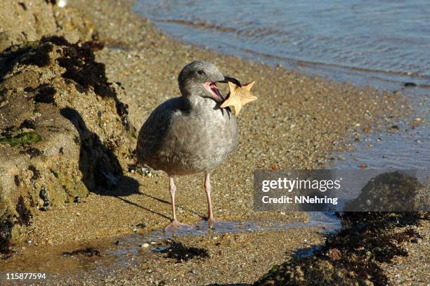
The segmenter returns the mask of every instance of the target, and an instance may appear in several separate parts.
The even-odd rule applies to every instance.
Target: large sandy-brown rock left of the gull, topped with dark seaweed
[[[20,223],[20,197],[31,214],[39,197],[46,211],[118,186],[136,144],[122,92],[90,48],[63,37],[0,53],[0,225]]]

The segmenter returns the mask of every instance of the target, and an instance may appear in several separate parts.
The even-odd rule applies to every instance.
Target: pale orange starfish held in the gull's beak
[[[221,108],[230,106],[233,115],[238,115],[243,105],[257,99],[256,96],[253,96],[251,93],[251,88],[254,84],[255,82],[249,82],[242,86],[237,86],[233,84],[233,82],[228,82],[230,92],[227,95],[226,101],[221,105]]]

